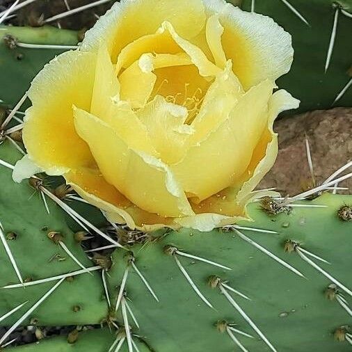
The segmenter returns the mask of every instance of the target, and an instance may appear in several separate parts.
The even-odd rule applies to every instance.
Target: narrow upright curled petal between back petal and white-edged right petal
[[[211,54],[213,55],[216,65],[224,68],[226,65],[226,56],[221,44],[221,36],[224,29],[218,19],[218,15],[213,15],[207,20],[206,37]]]

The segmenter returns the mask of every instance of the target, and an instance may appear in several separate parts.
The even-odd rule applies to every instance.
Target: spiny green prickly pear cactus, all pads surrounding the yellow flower
[[[320,33],[317,24],[321,18],[332,22],[335,2],[290,0],[310,26],[279,2],[255,2],[257,12],[271,15],[294,35],[296,63],[279,84],[302,99],[303,111],[328,107],[349,80],[351,58],[344,53],[351,46],[345,34],[351,19],[342,10],[351,12],[351,1],[339,1],[338,35],[326,76],[330,28]],[[242,1],[243,8],[251,5]],[[77,32],[49,26],[7,27],[1,35],[0,97],[6,106],[17,103],[45,63],[79,41]],[[64,47],[24,48],[18,43]],[[351,90],[338,104],[351,104]],[[6,350],[351,349],[351,275],[346,269],[351,196],[324,193],[294,204],[264,198],[249,207],[252,223],[207,233],[183,229],[141,234],[120,228],[111,241],[118,237],[125,248],[113,244],[91,262],[80,246],[86,225],[42,191],[51,194],[61,179],[38,175],[30,184],[13,182],[10,168],[22,147],[17,137],[10,141],[0,131],[0,325],[73,327],[68,336]],[[56,189],[56,195],[58,190],[63,192],[59,200],[71,207],[67,190]],[[97,209],[83,203],[72,207],[89,220],[92,234],[104,235],[101,229],[107,224]],[[94,325],[94,330],[84,331],[83,325]],[[8,341],[0,342],[0,350]]]

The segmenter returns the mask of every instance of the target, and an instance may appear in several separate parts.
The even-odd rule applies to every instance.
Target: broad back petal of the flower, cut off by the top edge
[[[100,17],[97,24],[85,35],[81,49],[97,50],[106,42],[113,62],[122,48],[157,31],[168,21],[182,37],[189,39],[205,26],[205,10],[202,0],[122,0]]]

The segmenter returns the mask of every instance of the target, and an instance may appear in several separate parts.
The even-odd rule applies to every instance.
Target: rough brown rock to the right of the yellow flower
[[[294,195],[311,184],[305,152],[310,143],[316,184],[321,184],[352,159],[352,109],[335,108],[282,118],[275,122],[279,134],[279,154],[272,170],[258,189],[277,187],[282,195]],[[351,172],[351,168],[346,170]],[[342,175],[344,175],[342,174]],[[342,176],[340,175],[340,176]],[[352,179],[339,184],[352,189]]]

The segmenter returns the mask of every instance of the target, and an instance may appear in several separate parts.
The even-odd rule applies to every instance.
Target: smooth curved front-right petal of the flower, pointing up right
[[[273,87],[273,82],[266,80],[251,88],[218,129],[171,166],[189,197],[204,200],[243,174],[267,125]]]

